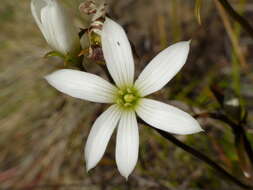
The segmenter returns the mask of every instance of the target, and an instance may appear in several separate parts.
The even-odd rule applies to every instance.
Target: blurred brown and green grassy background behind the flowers
[[[89,25],[90,18],[78,10],[81,0],[59,1],[72,13],[77,27]],[[204,0],[200,7],[196,2],[108,0],[108,12],[124,26],[136,49],[136,75],[162,49],[192,39],[187,64],[153,96],[192,115],[222,112],[235,122],[244,120],[252,144],[253,39],[217,0]],[[252,0],[229,3],[253,25]],[[101,162],[87,173],[84,145],[104,106],[61,94],[43,79],[63,64],[58,58],[43,58],[50,48],[32,18],[29,0],[1,0],[0,26],[1,190],[240,189],[142,126],[138,164],[128,181],[117,171],[115,134]],[[93,66],[87,63],[100,74]],[[243,148],[235,146],[231,128],[209,117],[199,121],[205,133],[177,138],[236,178],[252,183],[252,166],[240,156]]]

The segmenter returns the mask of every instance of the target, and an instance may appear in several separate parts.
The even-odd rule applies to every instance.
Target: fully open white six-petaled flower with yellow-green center
[[[117,127],[116,163],[121,175],[128,178],[138,158],[136,114],[151,126],[170,133],[185,135],[202,131],[189,114],[144,98],[160,90],[181,69],[189,53],[189,42],[176,43],[160,52],[135,82],[130,43],[123,28],[109,18],[102,30],[102,49],[116,86],[94,74],[69,69],[56,71],[46,80],[75,98],[112,104],[92,126],[85,147],[87,170],[100,161]]]

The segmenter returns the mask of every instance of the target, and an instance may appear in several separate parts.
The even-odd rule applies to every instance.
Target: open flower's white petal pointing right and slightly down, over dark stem
[[[166,132],[186,135],[203,131],[191,115],[159,101],[143,98],[136,112],[149,125]]]

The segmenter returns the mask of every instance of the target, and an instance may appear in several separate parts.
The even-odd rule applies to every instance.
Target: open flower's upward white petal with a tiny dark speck
[[[134,60],[124,29],[106,18],[102,30],[102,49],[107,68],[117,86],[128,86],[134,80]]]

